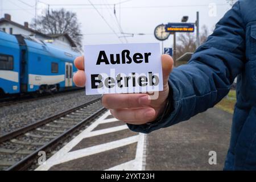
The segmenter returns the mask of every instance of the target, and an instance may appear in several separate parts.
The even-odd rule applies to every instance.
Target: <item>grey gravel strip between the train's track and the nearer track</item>
[[[42,98],[0,108],[0,135],[30,125],[61,111],[85,104],[99,96],[85,96],[84,90],[56,94],[55,97]]]

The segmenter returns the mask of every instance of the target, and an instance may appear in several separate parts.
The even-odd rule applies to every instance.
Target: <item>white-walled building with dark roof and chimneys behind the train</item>
[[[39,31],[29,28],[28,22],[24,22],[23,25],[13,22],[11,20],[11,15],[9,14],[5,14],[5,17],[0,19],[0,29],[5,31],[7,34],[31,36],[31,38],[52,43],[60,48],[75,49],[77,47],[75,42],[73,42],[72,38],[68,34],[42,34]]]

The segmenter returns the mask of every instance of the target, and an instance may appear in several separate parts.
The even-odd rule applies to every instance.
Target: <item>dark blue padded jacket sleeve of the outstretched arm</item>
[[[245,24],[240,2],[216,24],[207,41],[186,65],[175,68],[170,77],[174,111],[159,122],[128,125],[130,130],[151,131],[186,121],[216,105],[228,94],[245,60]]]

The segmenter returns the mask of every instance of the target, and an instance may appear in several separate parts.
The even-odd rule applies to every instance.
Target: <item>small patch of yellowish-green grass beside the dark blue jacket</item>
[[[236,104],[236,90],[230,90],[227,97],[223,98],[216,107],[225,110],[228,113],[234,113],[234,105]]]

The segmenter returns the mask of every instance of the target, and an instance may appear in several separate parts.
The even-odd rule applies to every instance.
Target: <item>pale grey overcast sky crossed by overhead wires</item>
[[[96,9],[90,5],[92,2]],[[128,37],[129,43],[150,43],[158,42],[154,37],[154,29],[158,24],[168,22],[180,22],[182,16],[188,15],[188,22],[195,22],[196,11],[200,12],[200,27],[207,25],[209,30],[220,18],[230,9],[225,0],[40,0],[37,14],[45,12],[47,4],[51,9],[65,9],[77,13],[84,35],[84,44],[109,44],[126,43],[124,38],[118,34],[117,19],[121,24],[123,32],[143,33],[147,35],[135,35]],[[116,5],[117,19],[114,16],[114,4]],[[102,5],[103,4],[103,5]],[[109,5],[106,5],[109,4]],[[216,7],[216,8],[215,8]],[[35,17],[35,0],[0,0],[1,16],[9,13],[15,22],[31,22]],[[114,32],[118,35],[115,35]],[[87,34],[87,35],[86,35]],[[172,47],[172,36],[164,42],[164,47]]]

